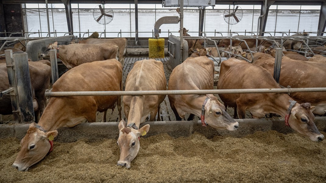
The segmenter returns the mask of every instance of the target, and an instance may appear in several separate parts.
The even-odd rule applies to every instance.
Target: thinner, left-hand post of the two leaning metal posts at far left
[[[15,70],[13,68],[14,60],[13,60],[13,56],[12,56],[12,50],[11,49],[5,50],[5,56],[6,56],[6,63],[7,63],[9,87],[14,88],[14,90],[10,92],[12,114],[14,116],[15,121],[21,122],[21,118],[20,118],[20,114],[19,114],[20,107],[19,107],[16,75],[15,75]]]

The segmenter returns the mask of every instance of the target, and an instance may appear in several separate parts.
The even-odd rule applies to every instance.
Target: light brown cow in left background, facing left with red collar
[[[68,69],[93,61],[119,60],[119,47],[111,43],[58,45],[58,42],[54,42],[41,56],[49,59],[51,49],[57,49],[57,57]]]

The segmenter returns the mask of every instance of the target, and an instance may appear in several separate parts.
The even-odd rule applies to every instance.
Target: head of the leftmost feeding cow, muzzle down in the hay
[[[21,140],[21,150],[12,164],[19,171],[27,171],[30,166],[41,161],[51,148],[49,137],[58,134],[56,130],[44,133],[35,126],[36,123],[29,125],[27,134]]]

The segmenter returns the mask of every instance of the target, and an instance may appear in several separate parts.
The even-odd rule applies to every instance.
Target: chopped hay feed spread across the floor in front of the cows
[[[41,162],[19,172],[11,167],[19,140],[0,139],[0,182],[326,182],[325,141],[315,143],[297,133],[212,139],[198,133],[176,139],[159,134],[140,143],[130,169],[116,165],[116,139],[103,139],[54,142]]]

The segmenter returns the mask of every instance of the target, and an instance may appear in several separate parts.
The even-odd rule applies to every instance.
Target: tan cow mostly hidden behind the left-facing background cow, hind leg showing
[[[126,38],[114,38],[114,39],[97,39],[89,38],[79,41],[80,44],[101,44],[101,43],[114,43],[119,47],[119,62],[124,67],[125,55],[127,53],[127,39]]]

